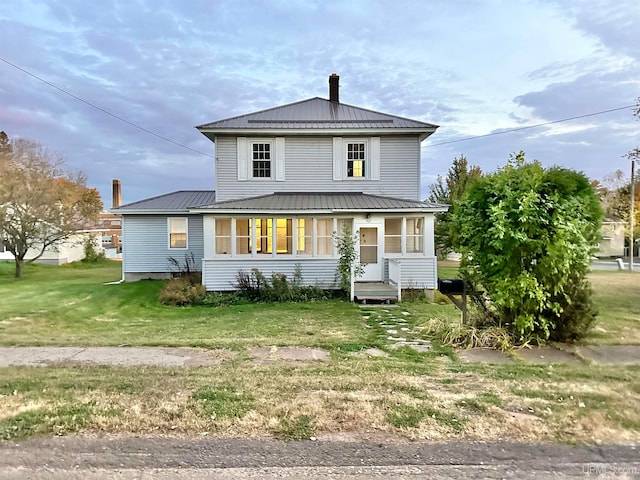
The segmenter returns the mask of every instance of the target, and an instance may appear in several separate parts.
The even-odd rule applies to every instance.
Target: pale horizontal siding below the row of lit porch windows
[[[202,283],[209,291],[234,290],[239,270],[251,272],[257,268],[263,275],[284,273],[288,280],[293,279],[296,264],[302,268],[302,280],[305,285],[320,288],[336,288],[337,259],[282,258],[282,259],[223,259],[204,260],[202,262]]]

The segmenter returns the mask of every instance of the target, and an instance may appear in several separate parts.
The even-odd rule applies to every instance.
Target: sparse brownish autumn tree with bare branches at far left
[[[82,173],[64,170],[64,159],[40,143],[18,138],[11,142],[0,164],[0,240],[22,276],[29,262],[45,249],[56,248],[95,220],[102,201],[96,189],[86,187]]]

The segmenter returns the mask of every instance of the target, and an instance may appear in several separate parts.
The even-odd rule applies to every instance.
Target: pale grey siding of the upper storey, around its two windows
[[[274,192],[364,192],[420,200],[417,136],[380,137],[379,180],[334,180],[333,152],[333,137],[286,137],[286,181],[238,181],[237,140],[217,137],[216,198],[223,201]]]

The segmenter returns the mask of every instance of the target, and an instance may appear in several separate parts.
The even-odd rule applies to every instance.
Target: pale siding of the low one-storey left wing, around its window
[[[189,219],[188,249],[170,249],[168,217]],[[125,273],[171,272],[167,260],[173,257],[184,262],[185,254],[193,253],[199,268],[203,257],[202,217],[199,215],[124,215],[122,249]]]

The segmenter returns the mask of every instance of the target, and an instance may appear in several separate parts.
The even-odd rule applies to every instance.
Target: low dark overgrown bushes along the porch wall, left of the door
[[[257,268],[251,272],[239,270],[234,287],[239,296],[254,302],[309,302],[328,297],[321,288],[302,285],[299,266],[296,266],[292,282],[284,273],[273,273],[268,278]]]

